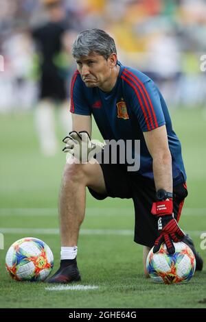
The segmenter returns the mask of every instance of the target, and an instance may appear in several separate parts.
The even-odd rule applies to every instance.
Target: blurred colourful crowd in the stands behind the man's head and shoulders
[[[50,0],[52,1],[52,0]],[[0,0],[0,111],[27,110],[38,98],[39,57],[32,31],[47,21],[49,0]],[[58,62],[68,82],[73,69],[71,44],[83,29],[106,30],[119,60],[148,74],[171,108],[204,106],[206,73],[205,0],[64,0],[67,21]]]

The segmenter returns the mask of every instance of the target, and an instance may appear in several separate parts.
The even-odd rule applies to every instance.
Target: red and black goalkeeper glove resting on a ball
[[[174,215],[172,214],[173,202],[172,193],[167,193],[161,189],[157,191],[157,202],[152,204],[152,214],[158,218],[158,232],[159,236],[155,240],[154,253],[159,251],[161,244],[165,242],[168,253],[175,252],[173,242],[177,243],[183,239],[185,234],[179,227]]]

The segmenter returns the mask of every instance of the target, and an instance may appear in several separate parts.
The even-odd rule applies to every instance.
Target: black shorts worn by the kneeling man
[[[157,218],[151,214],[152,203],[156,199],[155,182],[134,172],[127,172],[122,164],[100,164],[106,184],[106,195],[100,195],[89,188],[93,197],[102,200],[106,197],[132,198],[135,206],[135,237],[136,243],[152,247],[158,237]],[[177,221],[187,186],[183,182],[173,187],[173,212]]]

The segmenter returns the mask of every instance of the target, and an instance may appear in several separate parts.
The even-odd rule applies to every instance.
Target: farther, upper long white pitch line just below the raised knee
[[[87,208],[86,216],[133,216],[133,208]],[[0,216],[58,216],[57,208],[0,208]],[[206,216],[206,208],[183,208],[183,216]]]

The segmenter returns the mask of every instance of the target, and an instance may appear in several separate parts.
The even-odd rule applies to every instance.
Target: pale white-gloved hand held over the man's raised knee
[[[62,150],[74,156],[81,163],[86,163],[91,160],[95,154],[104,149],[103,143],[93,143],[89,134],[86,131],[69,132],[69,135],[63,139],[66,147]]]

